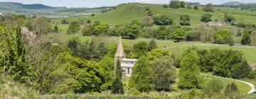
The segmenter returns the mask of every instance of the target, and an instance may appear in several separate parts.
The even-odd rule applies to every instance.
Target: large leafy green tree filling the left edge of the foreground
[[[28,63],[27,50],[23,43],[21,27],[0,27],[0,70],[16,81],[28,81],[31,65]]]

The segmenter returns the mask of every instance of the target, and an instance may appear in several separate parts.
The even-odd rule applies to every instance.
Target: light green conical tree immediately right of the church
[[[129,80],[129,86],[136,88],[138,91],[150,91],[153,88],[153,70],[147,57],[139,57],[138,61],[132,68],[132,76]]]

